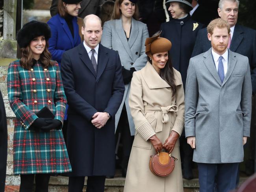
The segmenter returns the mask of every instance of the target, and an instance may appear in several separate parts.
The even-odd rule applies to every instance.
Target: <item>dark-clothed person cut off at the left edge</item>
[[[0,91],[0,192],[4,191],[6,183],[6,162],[7,162],[7,122],[6,109],[2,93]]]

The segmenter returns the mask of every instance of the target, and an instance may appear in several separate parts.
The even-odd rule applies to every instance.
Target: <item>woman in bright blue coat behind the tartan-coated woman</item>
[[[77,24],[81,0],[59,0],[58,14],[48,20],[52,37],[49,39],[49,52],[52,60],[59,65],[63,52],[81,43]]]

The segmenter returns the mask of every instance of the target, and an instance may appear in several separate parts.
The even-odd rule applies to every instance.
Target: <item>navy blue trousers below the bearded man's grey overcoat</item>
[[[236,188],[239,163],[197,163],[200,192],[229,192]]]

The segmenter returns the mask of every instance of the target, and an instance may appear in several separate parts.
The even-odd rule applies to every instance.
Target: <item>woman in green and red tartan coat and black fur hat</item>
[[[17,34],[21,59],[10,63],[7,88],[16,115],[13,136],[13,169],[20,174],[20,192],[47,192],[50,174],[70,172],[67,149],[60,130],[67,103],[57,62],[47,50],[50,28],[31,21]],[[39,118],[43,107],[54,119]]]

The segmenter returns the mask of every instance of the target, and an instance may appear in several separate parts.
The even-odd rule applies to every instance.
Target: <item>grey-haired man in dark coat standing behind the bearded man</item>
[[[252,78],[252,92],[256,92],[256,31],[236,24],[239,1],[220,0],[219,16],[230,24],[230,43],[228,48],[249,58]],[[206,28],[197,34],[197,40],[191,57],[206,52],[211,47]]]

